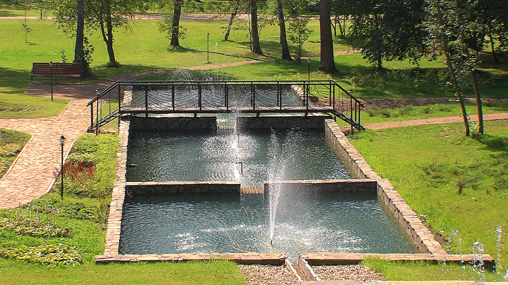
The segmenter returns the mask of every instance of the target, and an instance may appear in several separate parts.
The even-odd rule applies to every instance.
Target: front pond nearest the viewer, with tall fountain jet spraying
[[[273,243],[266,194],[126,199],[120,254],[260,252],[417,253],[376,193],[283,188]]]

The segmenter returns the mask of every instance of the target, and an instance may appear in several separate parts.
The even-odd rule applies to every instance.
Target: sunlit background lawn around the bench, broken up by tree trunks
[[[24,118],[57,115],[66,101],[49,102],[46,98],[37,98],[24,94],[30,81],[32,62],[61,61],[61,51],[65,51],[69,61],[74,55],[74,38],[63,34],[51,21],[28,20],[34,30],[28,34],[28,43],[24,43],[24,34],[20,20],[0,19],[0,37],[9,41],[0,42],[0,118]],[[120,63],[117,68],[106,67],[108,55],[106,46],[99,33],[87,35],[95,48],[91,63],[93,78],[86,83],[94,83],[107,77],[131,74],[161,68],[179,68],[204,65],[207,62],[206,32],[210,33],[210,62],[226,63],[258,59],[249,51],[249,40],[244,33],[232,33],[230,42],[221,42],[221,32],[227,22],[218,20],[182,20],[187,28],[187,36],[181,41],[182,49],[169,45],[166,34],[158,29],[156,20],[137,20],[132,31],[115,33],[115,56]],[[311,21],[309,26],[315,31],[304,45],[305,54],[319,53],[319,22]],[[206,28],[204,28],[206,27]],[[280,45],[277,26],[265,27],[261,32],[261,45],[266,57],[277,58]],[[215,47],[215,43],[217,46]],[[336,50],[347,49],[342,40],[337,39]],[[292,52],[294,48],[292,47]],[[36,79],[40,80],[40,79]],[[68,83],[76,83],[67,80]],[[14,110],[14,111],[11,111]]]

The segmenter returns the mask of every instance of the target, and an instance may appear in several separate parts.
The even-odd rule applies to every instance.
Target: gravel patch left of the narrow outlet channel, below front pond
[[[298,278],[289,267],[272,265],[238,265],[238,269],[245,276],[250,285],[299,284]]]

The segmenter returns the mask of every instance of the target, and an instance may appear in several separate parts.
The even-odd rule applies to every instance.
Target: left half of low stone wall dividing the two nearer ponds
[[[172,182],[127,182],[128,194],[169,195],[169,194],[240,194],[238,181],[172,181]]]

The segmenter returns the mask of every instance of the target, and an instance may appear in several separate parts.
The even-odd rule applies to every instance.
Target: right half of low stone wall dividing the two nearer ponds
[[[377,181],[372,179],[343,180],[284,180],[264,181],[263,191],[270,191],[270,185],[282,184],[282,187],[315,187],[318,192],[376,192]]]

